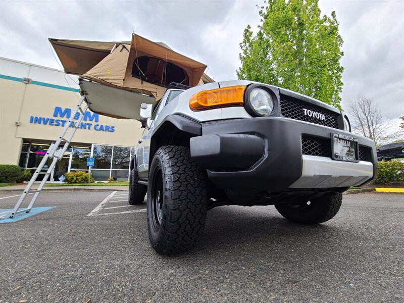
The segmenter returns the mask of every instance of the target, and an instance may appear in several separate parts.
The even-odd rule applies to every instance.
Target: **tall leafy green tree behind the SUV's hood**
[[[269,83],[340,108],[342,37],[335,12],[320,16],[318,0],[268,0],[253,36],[240,43],[239,79]]]

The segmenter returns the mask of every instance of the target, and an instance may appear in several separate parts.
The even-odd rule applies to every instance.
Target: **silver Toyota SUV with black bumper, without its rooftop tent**
[[[349,186],[376,177],[374,142],[352,134],[343,112],[268,84],[172,83],[140,118],[129,204],[147,193],[159,254],[192,247],[214,207],[274,205],[292,222],[318,224],[337,214]]]

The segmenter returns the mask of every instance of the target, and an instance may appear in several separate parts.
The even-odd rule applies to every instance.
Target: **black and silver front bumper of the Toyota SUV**
[[[351,133],[279,117],[257,117],[202,124],[190,139],[191,158],[206,168],[219,188],[283,191],[359,186],[376,176],[374,142],[356,136],[367,148],[366,161],[334,161],[303,155],[302,136],[329,140],[331,133]]]

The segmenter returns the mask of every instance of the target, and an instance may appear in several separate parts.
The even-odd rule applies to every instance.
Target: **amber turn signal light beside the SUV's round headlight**
[[[211,110],[230,106],[243,106],[245,86],[229,86],[199,91],[189,99],[193,111]]]

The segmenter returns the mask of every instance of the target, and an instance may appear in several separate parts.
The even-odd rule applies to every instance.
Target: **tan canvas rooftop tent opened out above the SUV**
[[[214,82],[204,74],[206,65],[136,34],[131,42],[49,40],[65,72],[82,75],[82,93],[98,114],[139,120],[140,104],[156,104],[169,83]]]

